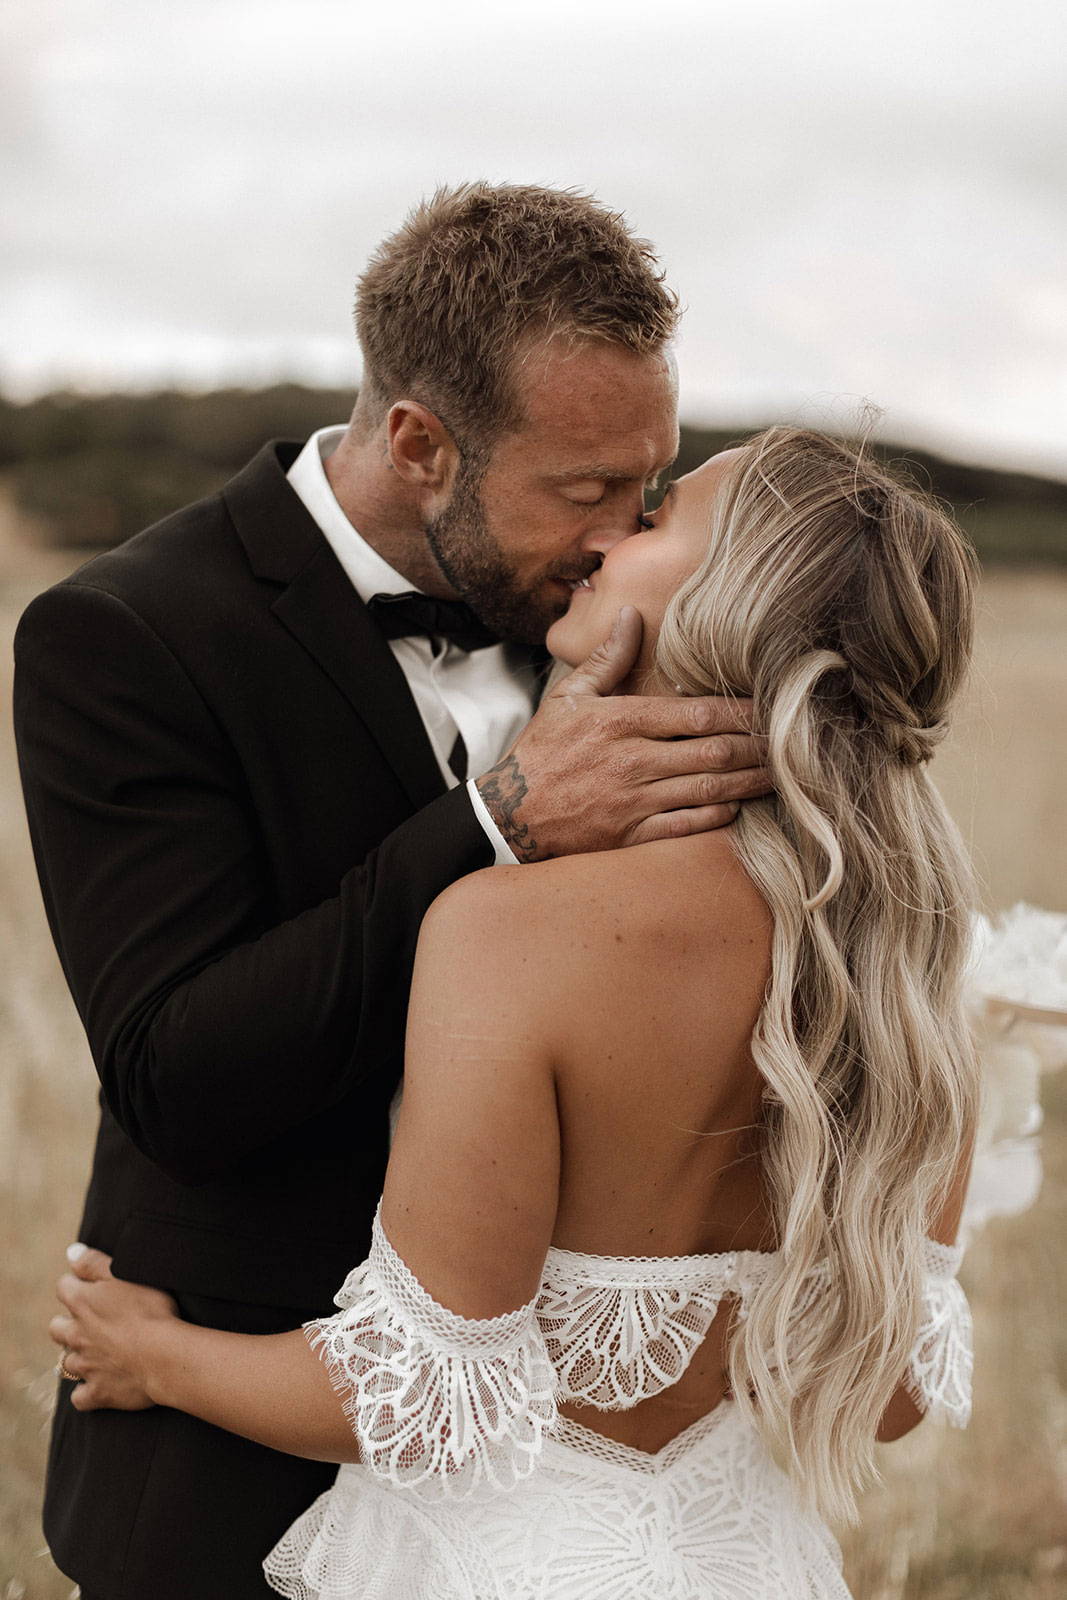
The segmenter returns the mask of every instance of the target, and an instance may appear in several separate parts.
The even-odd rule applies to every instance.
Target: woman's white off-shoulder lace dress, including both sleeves
[[[536,1299],[474,1322],[426,1293],[376,1218],[339,1315],[307,1330],[362,1462],[272,1550],[269,1582],[290,1600],[848,1600],[832,1534],[733,1402],[656,1454],[557,1411],[625,1410],[677,1382],[721,1298],[744,1315],[776,1259],[552,1248]],[[928,1242],[910,1389],[963,1426],[958,1261]]]

